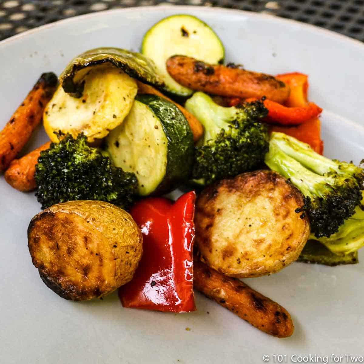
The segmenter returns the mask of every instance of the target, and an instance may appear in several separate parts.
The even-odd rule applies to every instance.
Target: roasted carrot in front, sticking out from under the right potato
[[[198,260],[193,262],[193,286],[267,334],[288,337],[293,333],[292,318],[281,305]]]

